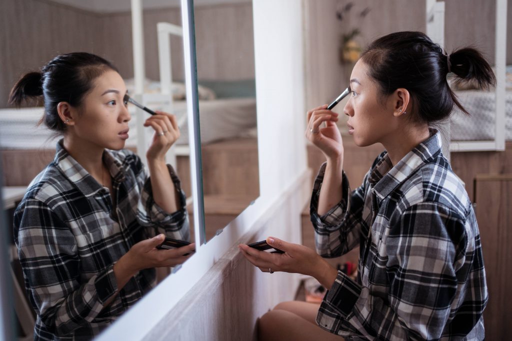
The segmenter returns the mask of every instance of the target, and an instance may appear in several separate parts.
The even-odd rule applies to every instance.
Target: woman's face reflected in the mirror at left
[[[99,149],[124,148],[131,119],[125,95],[126,86],[117,72],[109,70],[96,78],[73,118],[75,138]]]

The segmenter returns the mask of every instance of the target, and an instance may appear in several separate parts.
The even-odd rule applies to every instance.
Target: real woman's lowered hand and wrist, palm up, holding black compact
[[[313,249],[274,237],[268,237],[267,243],[285,253],[259,251],[245,244],[238,245],[238,248],[249,262],[263,272],[284,271],[312,276],[328,289],[334,283],[337,270]]]

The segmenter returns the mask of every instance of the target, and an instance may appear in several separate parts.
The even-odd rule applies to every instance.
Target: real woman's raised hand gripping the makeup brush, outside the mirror
[[[308,125],[306,138],[320,148],[328,159],[339,159],[343,156],[342,134],[336,125],[338,114],[327,110],[327,104],[311,109],[307,113]],[[322,123],[326,127],[321,128]]]

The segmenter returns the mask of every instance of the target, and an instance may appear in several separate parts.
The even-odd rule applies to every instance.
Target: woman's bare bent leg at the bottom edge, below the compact
[[[271,310],[258,324],[260,341],[343,341],[343,337],[329,333],[316,324],[287,310]]]

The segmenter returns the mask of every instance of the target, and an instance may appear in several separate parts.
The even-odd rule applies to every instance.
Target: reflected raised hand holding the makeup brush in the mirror
[[[165,153],[180,137],[180,129],[176,116],[158,110],[156,113],[157,115],[153,115],[144,122],[144,127],[155,129],[153,142],[147,149],[146,157],[148,161],[151,159],[165,161]]]

